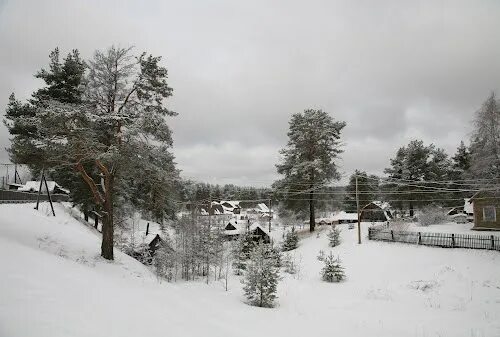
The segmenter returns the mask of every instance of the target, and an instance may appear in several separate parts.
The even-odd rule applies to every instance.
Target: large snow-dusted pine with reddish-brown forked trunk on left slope
[[[7,116],[13,127],[21,122],[34,128],[33,135],[23,135],[22,146],[14,142],[11,151],[17,159],[26,154],[24,149],[35,150],[42,153],[43,165],[79,174],[103,220],[101,255],[113,259],[116,207],[126,202],[140,210],[153,207],[159,218],[178,181],[165,119],[175,115],[165,107],[172,95],[167,70],[160,57],[111,47],[97,51],[88,62],[81,100],[53,100],[50,92],[58,93],[61,87],[55,75],[64,69],[57,55],[51,55],[51,70],[40,72],[48,88],[35,95],[39,103],[21,105],[20,117]]]

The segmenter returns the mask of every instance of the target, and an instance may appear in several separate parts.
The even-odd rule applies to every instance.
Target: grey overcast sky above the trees
[[[375,5],[375,3],[377,5]],[[293,113],[347,122],[346,175],[420,138],[453,153],[500,93],[500,1],[0,0],[0,111],[59,47],[163,56],[182,176],[266,185]],[[0,163],[8,133],[0,126]],[[1,175],[1,174],[0,174]]]

